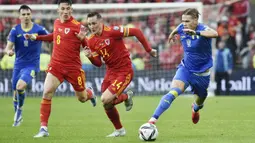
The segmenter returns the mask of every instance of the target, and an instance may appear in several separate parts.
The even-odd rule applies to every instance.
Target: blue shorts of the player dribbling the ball
[[[185,89],[190,85],[193,94],[197,94],[199,97],[207,96],[207,88],[210,83],[209,71],[204,73],[192,73],[184,66],[180,65],[174,80],[181,80],[185,83]]]

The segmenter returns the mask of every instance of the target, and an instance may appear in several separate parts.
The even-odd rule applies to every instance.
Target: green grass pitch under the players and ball
[[[118,105],[127,135],[106,138],[113,126],[102,104],[93,108],[75,97],[53,97],[48,138],[34,139],[39,130],[40,98],[27,98],[24,121],[12,127],[12,98],[0,98],[0,143],[141,143],[138,128],[154,112],[160,96],[134,97],[126,112]],[[98,100],[99,101],[99,100]],[[255,97],[211,97],[201,110],[200,122],[191,122],[193,98],[179,97],[157,123],[157,143],[255,143]]]

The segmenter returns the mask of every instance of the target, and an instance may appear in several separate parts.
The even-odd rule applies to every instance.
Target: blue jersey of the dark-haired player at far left
[[[18,24],[12,28],[9,33],[8,41],[14,43],[15,46],[15,64],[14,69],[26,67],[34,67],[36,72],[40,70],[40,52],[42,41],[26,40],[24,34],[46,35],[47,30],[33,23],[33,27],[29,31],[24,31],[21,25]]]

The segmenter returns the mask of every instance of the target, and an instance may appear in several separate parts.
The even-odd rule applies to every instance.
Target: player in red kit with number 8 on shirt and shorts
[[[41,102],[41,128],[35,138],[49,136],[47,125],[51,113],[51,99],[57,87],[67,80],[72,84],[75,95],[80,102],[90,100],[96,106],[96,96],[92,88],[85,88],[85,73],[81,68],[80,45],[82,41],[75,35],[82,26],[72,17],[72,2],[59,0],[59,19],[54,22],[54,32],[45,36],[26,35],[27,38],[54,41],[53,53],[48,73],[44,82],[43,99]],[[84,43],[83,43],[83,46]]]

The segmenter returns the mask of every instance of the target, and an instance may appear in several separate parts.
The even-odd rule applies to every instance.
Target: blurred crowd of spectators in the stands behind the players
[[[107,3],[140,3],[140,2],[197,2],[198,0],[107,0]],[[213,42],[213,53],[219,47],[219,43],[224,43],[225,48],[231,51],[233,58],[233,68],[255,68],[255,25],[249,18],[249,0],[201,0],[204,6],[203,21],[211,28],[216,29],[219,38]],[[50,0],[0,0],[0,4],[55,4],[57,1]],[[74,3],[105,3],[105,0],[73,0]],[[112,10],[112,13],[124,13],[128,10]],[[103,10],[100,12],[104,12]],[[109,11],[107,11],[109,12]],[[47,13],[47,12],[46,12]],[[55,11],[54,14],[56,15]],[[181,22],[181,12],[151,14],[144,16],[107,18],[106,23],[112,25],[125,25],[137,27],[143,30],[153,48],[159,52],[158,58],[150,58],[143,47],[133,37],[125,38],[125,43],[130,51],[133,66],[136,70],[147,69],[175,69],[180,63],[183,49],[180,42],[167,43],[167,38]],[[217,17],[217,19],[215,18]],[[79,19],[86,25],[85,19]],[[54,19],[35,18],[34,22],[46,27],[49,32],[53,30]],[[18,18],[0,18],[0,61],[1,69],[11,68],[14,59],[6,57],[3,49],[6,45],[6,37],[11,28],[19,23]],[[52,44],[43,44],[42,50],[42,70],[47,67],[50,60]],[[93,65],[87,58],[82,57],[83,68],[92,70]],[[13,64],[12,64],[13,65]]]

